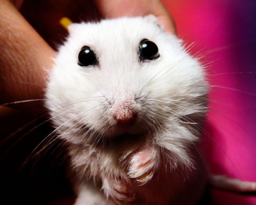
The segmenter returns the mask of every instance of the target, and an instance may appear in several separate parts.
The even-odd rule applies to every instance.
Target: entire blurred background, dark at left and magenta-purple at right
[[[256,181],[256,1],[163,2],[175,20],[178,36],[186,45],[192,44],[191,54],[203,56],[210,82],[210,112],[202,149],[210,171]],[[59,20],[63,16],[73,22],[100,19],[92,8],[93,1],[25,0],[20,12],[57,50],[67,36]],[[1,204],[72,204],[61,142],[29,157],[52,131],[48,122],[43,123],[46,118],[22,128],[33,119],[11,108],[1,113],[0,123],[7,128],[0,131],[4,139],[0,143]],[[207,197],[212,204],[256,204],[255,195],[212,188]]]

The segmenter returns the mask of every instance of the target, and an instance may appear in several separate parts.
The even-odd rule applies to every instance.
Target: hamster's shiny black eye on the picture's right
[[[142,60],[153,60],[160,56],[157,45],[148,39],[140,42],[139,55]]]

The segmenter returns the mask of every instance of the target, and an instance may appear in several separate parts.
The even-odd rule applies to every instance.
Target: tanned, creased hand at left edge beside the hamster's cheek
[[[0,103],[42,98],[55,52],[7,0],[0,1],[0,29]]]

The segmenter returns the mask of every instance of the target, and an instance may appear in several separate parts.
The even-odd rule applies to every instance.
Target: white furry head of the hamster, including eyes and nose
[[[203,68],[180,39],[157,25],[156,17],[68,29],[46,91],[60,137],[73,143],[157,137],[200,122],[207,95]]]

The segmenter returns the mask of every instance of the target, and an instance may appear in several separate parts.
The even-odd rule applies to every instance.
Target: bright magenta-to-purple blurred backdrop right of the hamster
[[[178,36],[196,42],[212,62],[210,109],[204,149],[212,173],[256,181],[256,1],[164,1]],[[247,73],[239,73],[247,72]],[[219,73],[229,73],[212,75]],[[230,74],[233,73],[233,74]],[[236,91],[232,89],[241,90]],[[250,93],[250,94],[249,94]],[[228,119],[229,118],[229,119]],[[214,138],[214,139],[211,139]],[[211,189],[213,204],[256,204],[256,197]]]

